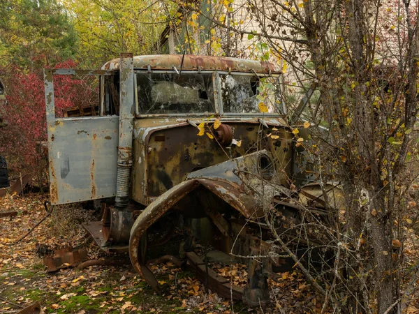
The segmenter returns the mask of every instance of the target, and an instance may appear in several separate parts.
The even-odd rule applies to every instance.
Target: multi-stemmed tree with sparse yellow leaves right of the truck
[[[179,5],[193,12],[190,19],[195,14],[212,22],[212,42],[226,43],[219,39],[222,32],[230,43],[242,40],[218,53],[248,52],[280,63],[286,118],[314,160],[315,180],[323,186],[337,181],[344,190],[346,209],[337,210],[325,194],[331,219],[317,222],[322,230],[335,227],[326,232],[335,262],[312,277],[322,283],[317,287],[325,304],[332,301],[348,313],[403,311],[418,276],[417,264],[404,268],[403,250],[412,223],[407,192],[419,174],[413,145],[418,3],[216,1],[213,8],[221,10],[210,12]],[[314,95],[304,107],[300,100],[307,93]],[[299,133],[301,119],[311,125],[310,135]],[[413,177],[406,166],[416,167]],[[404,282],[402,297],[406,276],[412,279]]]

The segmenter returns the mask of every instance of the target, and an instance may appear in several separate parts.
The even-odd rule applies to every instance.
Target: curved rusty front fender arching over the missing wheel
[[[157,197],[138,216],[131,229],[129,255],[134,269],[146,279],[154,290],[159,290],[159,283],[145,263],[143,256],[145,252],[141,252],[142,236],[147,229],[179,200],[200,185],[240,211],[245,218],[254,219],[263,216],[263,207],[255,194],[256,190],[251,188],[254,182],[253,175],[258,177],[258,158],[260,156],[272,158],[266,151],[258,151],[193,172],[189,174],[186,181]]]

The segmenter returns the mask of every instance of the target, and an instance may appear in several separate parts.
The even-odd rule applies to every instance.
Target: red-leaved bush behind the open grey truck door
[[[76,68],[77,65],[69,59],[55,68]],[[38,179],[38,184],[43,184],[47,165],[40,146],[47,140],[43,70],[27,72],[15,67],[5,76],[7,102],[0,105],[0,117],[8,121],[8,126],[0,128],[0,155],[6,156],[12,174],[30,174]],[[54,75],[57,117],[62,117],[66,107],[98,101],[95,82],[92,77]]]

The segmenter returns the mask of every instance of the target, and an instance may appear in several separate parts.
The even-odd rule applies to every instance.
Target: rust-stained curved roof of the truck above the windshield
[[[153,54],[133,57],[135,69],[172,70],[173,66],[180,69],[182,54]],[[105,63],[103,70],[119,70],[120,59],[113,59]],[[256,72],[281,74],[281,70],[273,63],[253,61],[230,57],[210,57],[185,54],[182,70],[220,70],[231,72]]]

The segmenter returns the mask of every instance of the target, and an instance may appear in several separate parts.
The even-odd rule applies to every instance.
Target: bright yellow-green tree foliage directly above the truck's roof
[[[166,27],[156,1],[66,0],[78,33],[78,57],[83,64],[99,67],[120,52],[149,54]]]

